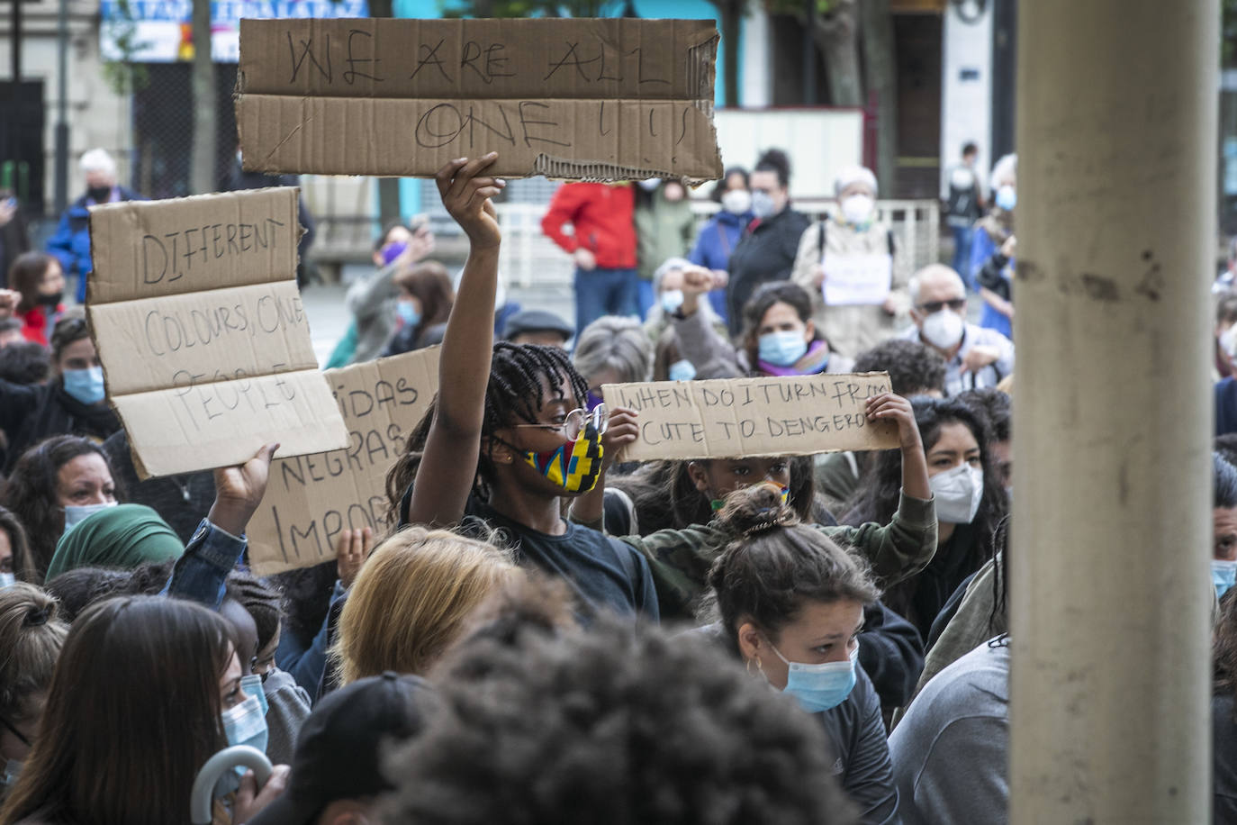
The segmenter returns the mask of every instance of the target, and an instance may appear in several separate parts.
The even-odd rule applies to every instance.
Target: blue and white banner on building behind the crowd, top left
[[[103,0],[99,48],[105,61],[176,63],[193,59],[193,0]],[[241,17],[369,17],[369,0],[214,0],[210,57],[240,59]]]

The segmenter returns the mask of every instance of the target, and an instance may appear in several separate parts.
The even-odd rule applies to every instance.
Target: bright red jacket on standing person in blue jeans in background
[[[564,183],[554,193],[542,231],[567,252],[581,246],[605,270],[636,266],[635,187],[630,183]],[[563,233],[571,224],[574,235]]]

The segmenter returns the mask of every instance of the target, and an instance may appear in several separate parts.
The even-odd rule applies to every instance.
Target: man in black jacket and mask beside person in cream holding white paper
[[[730,254],[726,313],[732,335],[738,335],[743,306],[757,287],[790,277],[799,239],[809,223],[790,208],[790,160],[785,152],[764,152],[750,181],[756,218]]]

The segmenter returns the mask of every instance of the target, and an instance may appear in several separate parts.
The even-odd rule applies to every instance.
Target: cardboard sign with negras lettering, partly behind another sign
[[[438,348],[327,370],[345,449],[277,459],[249,522],[249,558],[271,575],[335,558],[340,531],[386,527],[386,474],[438,391]]]

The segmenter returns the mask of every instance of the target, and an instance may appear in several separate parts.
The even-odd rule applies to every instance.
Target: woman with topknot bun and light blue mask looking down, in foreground
[[[856,557],[798,523],[772,485],[726,498],[735,539],[709,571],[719,622],[708,635],[816,716],[834,773],[863,823],[898,823],[876,691],[858,660],[863,607],[880,591]]]

